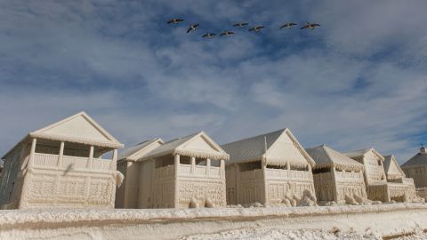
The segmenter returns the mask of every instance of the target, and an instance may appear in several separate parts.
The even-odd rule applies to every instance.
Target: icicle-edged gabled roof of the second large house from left
[[[205,157],[213,160],[229,160],[229,155],[205,132],[197,132],[180,139],[165,142],[141,157],[141,160],[168,154]]]

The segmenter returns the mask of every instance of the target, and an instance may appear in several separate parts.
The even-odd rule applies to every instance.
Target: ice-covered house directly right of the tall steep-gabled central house
[[[326,145],[306,151],[316,162],[313,179],[319,202],[360,204],[367,200],[363,164]]]

